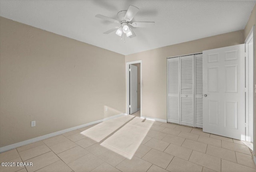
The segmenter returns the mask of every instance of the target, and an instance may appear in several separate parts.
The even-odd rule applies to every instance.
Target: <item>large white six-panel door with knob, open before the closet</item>
[[[203,131],[245,139],[244,44],[203,51]]]

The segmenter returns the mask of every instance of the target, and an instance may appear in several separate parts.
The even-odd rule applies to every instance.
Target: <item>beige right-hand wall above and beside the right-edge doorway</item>
[[[252,26],[255,26],[256,25],[256,5],[254,6],[253,10],[252,10],[252,13],[251,13],[251,16],[244,28],[244,40],[246,40],[248,34],[250,33],[250,30],[252,29]],[[256,84],[256,70],[255,70],[255,67],[256,67],[256,30],[254,30],[254,85]],[[255,111],[256,111],[256,97],[254,96],[254,125],[256,124],[256,114],[255,114]],[[256,141],[256,127],[254,127],[254,155],[255,155],[255,150],[256,150],[256,144],[255,144],[255,141]]]

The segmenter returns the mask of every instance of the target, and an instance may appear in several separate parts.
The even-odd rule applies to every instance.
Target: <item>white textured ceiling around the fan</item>
[[[208,36],[242,30],[256,1],[172,0],[0,0],[0,16],[123,55]],[[140,8],[132,22],[155,22],[153,28],[134,28],[135,38],[124,43],[112,32],[129,5]]]

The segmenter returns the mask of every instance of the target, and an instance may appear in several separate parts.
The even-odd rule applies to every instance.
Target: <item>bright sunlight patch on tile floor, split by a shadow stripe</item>
[[[104,121],[80,134],[100,142],[101,146],[131,159],[154,121],[134,115],[124,115]]]

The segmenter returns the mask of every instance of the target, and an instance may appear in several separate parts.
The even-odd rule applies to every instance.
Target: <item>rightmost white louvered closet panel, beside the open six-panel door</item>
[[[195,75],[195,127],[203,128],[203,55],[194,57]]]

